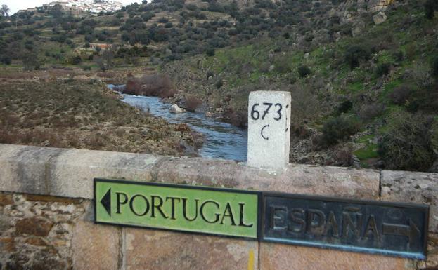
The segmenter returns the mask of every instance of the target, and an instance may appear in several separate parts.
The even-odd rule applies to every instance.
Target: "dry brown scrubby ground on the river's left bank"
[[[120,101],[103,83],[0,84],[0,143],[183,154],[190,129]]]

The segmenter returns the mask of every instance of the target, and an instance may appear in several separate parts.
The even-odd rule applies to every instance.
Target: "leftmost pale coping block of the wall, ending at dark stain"
[[[47,194],[46,164],[63,149],[0,144],[2,191]]]

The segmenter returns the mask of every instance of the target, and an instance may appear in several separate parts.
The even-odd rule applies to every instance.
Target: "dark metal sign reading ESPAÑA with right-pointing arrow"
[[[264,193],[262,241],[425,259],[429,207]]]

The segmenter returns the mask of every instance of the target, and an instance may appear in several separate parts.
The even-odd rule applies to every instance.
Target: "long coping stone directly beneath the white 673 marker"
[[[379,172],[290,164],[286,170],[260,170],[233,161],[168,158],[153,169],[157,182],[264,191],[378,199]]]

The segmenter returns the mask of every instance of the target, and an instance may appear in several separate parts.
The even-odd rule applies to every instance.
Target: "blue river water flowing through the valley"
[[[109,88],[114,86],[109,85]],[[206,117],[202,113],[185,112],[172,114],[169,108],[172,104],[162,103],[158,97],[143,97],[139,95],[123,94],[123,102],[139,107],[154,116],[162,117],[170,123],[186,123],[193,130],[202,133],[204,144],[199,154],[206,158],[224,158],[235,161],[246,161],[247,158],[247,130],[232,126],[229,123]]]

